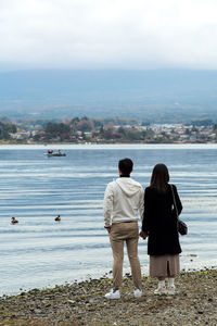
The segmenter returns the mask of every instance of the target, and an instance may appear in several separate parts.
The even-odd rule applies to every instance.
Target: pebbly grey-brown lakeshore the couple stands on
[[[154,296],[156,280],[143,277],[143,296],[135,299],[126,276],[122,299],[104,293],[112,279],[102,277],[0,298],[3,326],[217,325],[217,269],[182,273],[175,296]]]

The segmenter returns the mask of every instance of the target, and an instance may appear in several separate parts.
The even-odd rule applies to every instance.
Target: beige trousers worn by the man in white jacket
[[[130,262],[132,281],[135,288],[141,289],[141,267],[138,258],[139,229],[137,222],[117,223],[112,225],[110,242],[113,251],[113,285],[118,289],[123,278],[124,242],[127,244],[127,253]]]

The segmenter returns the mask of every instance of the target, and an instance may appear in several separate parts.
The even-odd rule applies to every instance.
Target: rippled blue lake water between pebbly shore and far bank
[[[56,146],[52,149],[59,149]],[[183,204],[182,268],[217,266],[217,146],[61,146],[65,158],[47,158],[48,147],[0,147],[0,294],[99,277],[112,268],[103,226],[106,184],[117,162],[135,162],[132,177],[149,185],[152,167],[168,165]],[[61,215],[61,223],[54,217]],[[11,216],[20,223],[11,225]],[[139,241],[143,274],[146,242]],[[129,265],[125,256],[125,272]]]

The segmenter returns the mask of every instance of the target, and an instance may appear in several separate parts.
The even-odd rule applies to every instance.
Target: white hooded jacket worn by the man
[[[144,209],[143,188],[130,177],[119,177],[110,183],[104,195],[105,227],[115,223],[138,221]]]

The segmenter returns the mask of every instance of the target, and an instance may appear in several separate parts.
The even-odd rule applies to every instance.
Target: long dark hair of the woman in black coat
[[[169,172],[165,164],[156,164],[152,172],[150,187],[155,188],[158,192],[165,192],[169,181]]]

